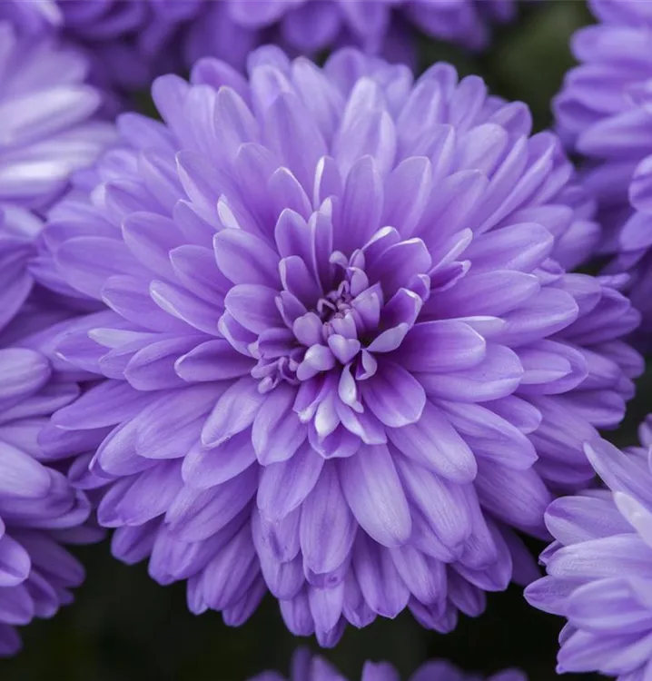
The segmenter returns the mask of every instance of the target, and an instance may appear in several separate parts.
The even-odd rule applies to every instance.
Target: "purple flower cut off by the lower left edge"
[[[78,390],[57,380],[47,358],[0,349],[0,656],[20,646],[15,626],[52,617],[72,600],[84,568],[62,546],[94,540],[90,504],[62,472],[45,465],[38,431]]]

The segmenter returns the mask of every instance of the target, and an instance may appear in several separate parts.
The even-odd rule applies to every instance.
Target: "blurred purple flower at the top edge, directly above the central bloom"
[[[517,5],[516,0],[226,0],[204,5],[203,20],[192,25],[185,50],[193,60],[211,55],[229,61],[235,54],[244,64],[242,47],[232,49],[240,37],[250,49],[269,40],[292,54],[314,55],[352,44],[411,62],[417,31],[479,50],[489,43],[490,25],[512,20]]]

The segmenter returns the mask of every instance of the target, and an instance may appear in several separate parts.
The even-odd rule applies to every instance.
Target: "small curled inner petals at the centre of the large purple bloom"
[[[309,223],[313,222],[311,218]],[[282,223],[291,224],[294,232],[299,225],[288,220]],[[365,413],[358,383],[377,376],[376,355],[399,350],[417,321],[430,293],[431,259],[424,242],[401,242],[393,228],[380,230],[364,249],[351,255],[323,251],[325,242],[316,250],[317,232],[311,234],[310,245],[289,238],[289,226],[283,229],[277,227],[283,252],[279,264],[282,291],[272,294],[272,289],[261,284],[236,284],[227,293],[225,306],[243,330],[257,337],[246,347],[258,360],[252,378],[258,381],[259,392],[282,384],[300,386],[333,372],[334,382],[327,380],[319,390],[302,389],[302,406],[298,403],[295,408],[302,423],[313,421],[316,441],[321,442],[340,426],[342,409],[345,415],[346,410],[351,415]],[[301,254],[292,253],[294,248]],[[405,260],[400,253],[406,255]],[[320,263],[323,257],[332,272],[326,290],[322,290],[326,280],[318,281],[313,274],[325,271]],[[383,262],[393,263],[391,272]],[[376,281],[370,278],[369,266],[376,272]],[[386,282],[390,297],[386,297]],[[360,430],[358,421],[351,419],[347,418],[349,426],[342,425]],[[364,419],[369,422],[367,416]]]

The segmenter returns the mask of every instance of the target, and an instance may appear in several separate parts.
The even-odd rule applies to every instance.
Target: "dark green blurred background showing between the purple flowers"
[[[479,56],[424,39],[421,66],[446,59],[460,74],[482,75],[494,93],[527,102],[541,129],[550,122],[550,98],[573,64],[568,38],[588,22],[582,0],[542,0],[499,30]],[[633,424],[645,413],[639,396],[617,434],[619,442],[633,439]],[[316,647],[312,640],[291,637],[272,598],[244,627],[232,629],[218,614],[190,615],[182,584],[159,587],[144,565],[129,568],[112,559],[107,542],[77,553],[89,578],[74,606],[25,628],[25,650],[0,661],[0,681],[244,681],[266,668],[286,672],[295,646]],[[360,678],[365,659],[389,660],[407,678],[435,656],[486,674],[519,666],[533,681],[543,681],[555,676],[560,626],[557,618],[529,608],[511,587],[490,595],[485,615],[462,618],[449,636],[425,631],[403,614],[394,621],[378,619],[363,631],[350,627],[325,655],[351,681]]]

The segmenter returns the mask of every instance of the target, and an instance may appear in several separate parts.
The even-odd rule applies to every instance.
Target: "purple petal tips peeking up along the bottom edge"
[[[480,681],[482,676],[463,672],[446,660],[431,660],[410,676],[410,681]],[[527,676],[516,669],[506,669],[489,676],[488,681],[527,681]],[[263,672],[251,681],[286,681],[277,672]],[[313,656],[299,649],[292,656],[290,681],[346,681],[344,676],[323,657]],[[400,681],[399,673],[386,662],[366,662],[361,681]]]

